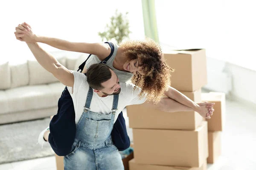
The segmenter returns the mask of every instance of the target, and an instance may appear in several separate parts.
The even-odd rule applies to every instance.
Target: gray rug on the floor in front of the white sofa
[[[43,149],[37,144],[49,122],[47,118],[0,125],[0,164],[54,155],[49,143]]]

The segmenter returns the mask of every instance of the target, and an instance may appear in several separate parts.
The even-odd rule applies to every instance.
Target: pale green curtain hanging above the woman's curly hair
[[[145,36],[159,43],[157,32],[157,18],[154,0],[142,0],[143,21]]]

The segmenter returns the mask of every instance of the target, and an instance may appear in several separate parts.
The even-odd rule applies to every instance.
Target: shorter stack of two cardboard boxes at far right
[[[202,93],[202,101],[215,103],[213,116],[207,120],[209,147],[207,163],[213,164],[221,155],[221,131],[224,127],[225,94],[216,92]]]

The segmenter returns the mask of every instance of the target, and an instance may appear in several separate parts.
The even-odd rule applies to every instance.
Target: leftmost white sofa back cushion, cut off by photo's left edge
[[[11,88],[11,71],[9,62],[0,63],[0,89]]]

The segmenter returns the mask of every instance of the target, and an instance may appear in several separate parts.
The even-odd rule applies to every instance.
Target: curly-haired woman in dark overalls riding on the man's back
[[[42,42],[61,50],[92,54],[87,60],[86,65],[81,65],[81,67],[79,67],[82,70],[82,73],[86,73],[86,70],[90,65],[102,62],[107,57],[108,61],[106,61],[105,64],[110,66],[113,71],[115,71],[120,82],[126,82],[133,78],[135,85],[142,88],[141,96],[146,93],[148,101],[157,103],[160,101],[161,96],[166,94],[166,96],[175,99],[177,102],[180,102],[183,105],[187,105],[191,108],[195,105],[195,103],[186,96],[169,86],[171,83],[170,72],[173,71],[173,69],[166,64],[160,46],[149,38],[143,41],[127,41],[120,44],[120,46],[113,43],[69,42],[57,38],[37,36],[33,34],[31,27],[27,23],[23,23],[16,27],[15,34],[17,39],[21,41],[23,41],[22,37],[26,36],[29,37],[30,42]],[[60,98],[58,102],[58,113],[54,116],[50,124],[51,133],[49,133],[47,128],[46,130],[43,130],[39,136],[41,139],[42,137],[43,139],[47,139],[49,136],[49,143],[51,144],[55,153],[57,153],[59,156],[64,156],[70,151],[69,147],[67,146],[73,144],[73,138],[68,136],[70,142],[66,143],[63,143],[63,138],[67,134],[72,134],[74,131],[73,128],[75,127],[74,124],[68,126],[67,121],[60,123],[61,120],[74,119],[72,114],[67,114],[74,113],[72,99],[68,92],[66,93],[64,91],[62,96],[63,95],[66,97],[66,99],[64,99],[64,97]],[[61,109],[63,111],[61,111]],[[63,114],[64,112],[65,114]],[[212,115],[212,111],[209,111],[207,114],[200,114],[209,118],[209,116]],[[127,148],[127,141],[129,138],[125,129],[125,122],[122,114],[119,114],[118,119],[119,122],[117,120],[115,123],[116,129],[113,129],[113,131],[116,131],[112,132],[114,135],[111,135],[115,145],[118,147],[118,144],[120,144],[118,147],[119,150],[124,150]],[[58,133],[58,128],[63,128],[63,125],[67,127],[67,133],[60,135]],[[120,130],[122,131],[120,132]],[[117,135],[117,137],[115,137],[115,134],[118,134],[119,136]],[[62,139],[55,138],[53,140],[53,136],[62,136]],[[38,141],[40,142],[40,139],[38,139]],[[51,143],[51,141],[54,142]],[[126,144],[125,147],[124,143]],[[66,150],[63,151],[63,149],[60,152],[59,148],[66,148]]]

